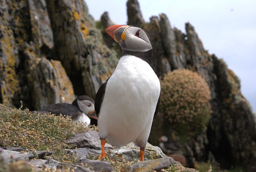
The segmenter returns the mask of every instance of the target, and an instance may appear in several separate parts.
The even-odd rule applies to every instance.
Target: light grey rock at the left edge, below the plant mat
[[[12,151],[12,150],[2,150],[1,156],[4,158],[5,162],[11,162],[12,160],[28,161],[28,156],[26,154],[22,154],[20,152]]]

